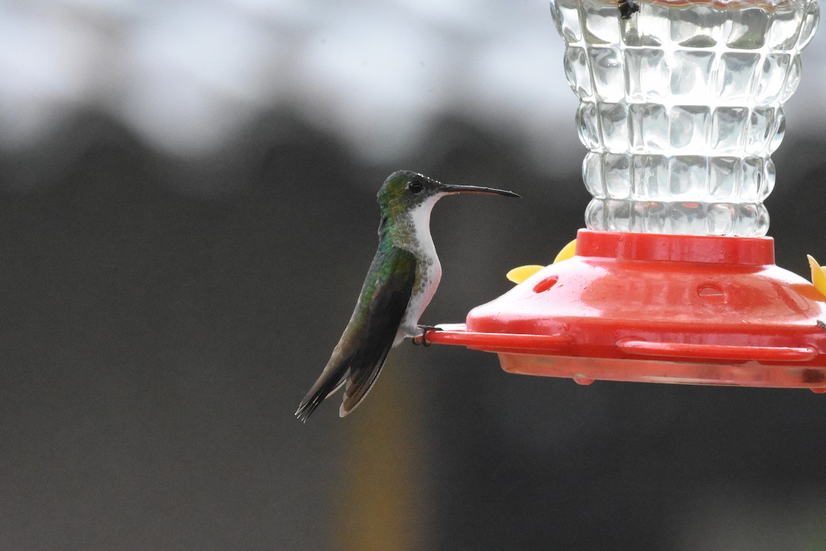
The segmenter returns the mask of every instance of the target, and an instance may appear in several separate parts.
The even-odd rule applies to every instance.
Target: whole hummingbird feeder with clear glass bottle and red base
[[[763,206],[817,0],[552,0],[551,12],[580,100],[587,229],[572,258],[426,340],[582,384],[826,392],[826,297],[774,264]]]

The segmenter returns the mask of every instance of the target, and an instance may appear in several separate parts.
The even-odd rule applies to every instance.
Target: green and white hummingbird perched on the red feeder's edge
[[[426,345],[425,333],[438,330],[419,325],[442,277],[430,235],[430,211],[440,198],[454,193],[520,197],[503,189],[446,185],[409,170],[387,177],[378,190],[382,220],[376,255],[344,334],[298,406],[298,419],[306,421],[321,401],[341,387],[344,401],[339,416],[348,415],[373,387],[392,347],[406,337]]]

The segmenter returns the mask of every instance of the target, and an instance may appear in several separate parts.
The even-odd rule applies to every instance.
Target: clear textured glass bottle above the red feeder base
[[[552,0],[591,230],[766,235],[770,154],[817,0]]]

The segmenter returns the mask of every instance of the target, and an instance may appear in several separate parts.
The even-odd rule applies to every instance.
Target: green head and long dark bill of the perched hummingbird
[[[495,193],[506,197],[519,197],[514,192],[503,189],[482,188],[479,186],[452,186],[441,183],[424,174],[399,170],[392,173],[378,190],[378,204],[382,209],[382,216],[391,219],[401,216],[404,212],[430,207],[439,200],[439,197],[453,193]]]

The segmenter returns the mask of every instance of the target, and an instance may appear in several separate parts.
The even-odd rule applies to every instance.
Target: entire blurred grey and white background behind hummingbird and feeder
[[[826,259],[826,36],[767,206]],[[395,169],[463,321],[589,196],[546,0],[0,0],[0,549],[826,549],[826,397],[402,345],[292,416]]]

